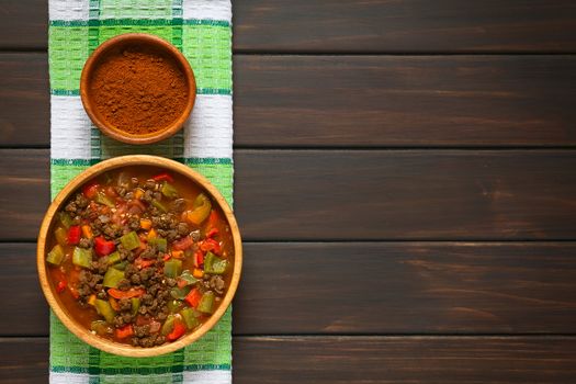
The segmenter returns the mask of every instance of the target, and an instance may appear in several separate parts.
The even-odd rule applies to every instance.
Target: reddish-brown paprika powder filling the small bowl
[[[109,55],[94,70],[92,100],[109,125],[131,135],[168,127],[184,111],[189,89],[170,56],[147,47],[127,47]]]

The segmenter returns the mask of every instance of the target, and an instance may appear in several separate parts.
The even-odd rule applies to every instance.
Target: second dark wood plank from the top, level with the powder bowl
[[[44,54],[0,55],[0,145],[48,146]],[[576,146],[573,56],[235,56],[238,147]]]

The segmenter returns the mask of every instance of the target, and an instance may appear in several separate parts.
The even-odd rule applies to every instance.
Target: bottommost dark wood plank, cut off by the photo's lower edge
[[[0,339],[1,383],[47,381],[48,340]],[[573,337],[237,337],[235,383],[573,383]]]

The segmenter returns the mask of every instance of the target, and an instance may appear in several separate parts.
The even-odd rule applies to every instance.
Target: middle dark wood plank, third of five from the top
[[[0,240],[36,237],[47,162],[0,150]],[[575,239],[574,169],[574,150],[237,150],[235,207],[246,240]]]

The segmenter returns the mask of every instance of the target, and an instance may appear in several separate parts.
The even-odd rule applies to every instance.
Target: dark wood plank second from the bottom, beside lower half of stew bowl
[[[569,334],[575,253],[576,242],[246,242],[234,332]],[[34,258],[33,244],[0,245],[0,302],[25,303],[0,306],[1,336],[48,334]]]

